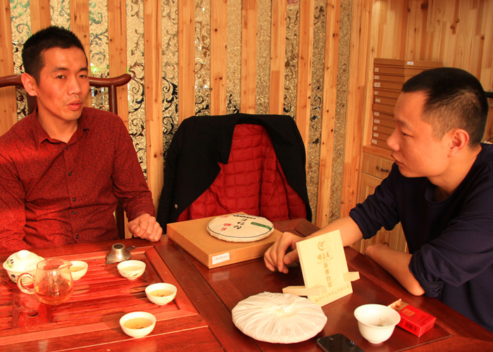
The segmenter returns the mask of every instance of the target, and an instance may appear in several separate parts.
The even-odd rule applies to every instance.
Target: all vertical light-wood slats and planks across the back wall
[[[1,0],[6,11],[0,13],[0,75],[14,73],[13,49],[9,8],[10,1]],[[51,3],[58,0],[51,0]],[[227,111],[227,10],[241,0],[208,0],[210,18],[210,106],[208,113],[222,114]],[[255,113],[256,97],[268,94],[268,111],[285,111],[285,65],[287,54],[287,6],[299,6],[299,32],[297,34],[297,84],[296,106],[299,130],[308,144],[311,130],[310,106],[311,78],[313,75],[312,54],[313,12],[316,0],[273,0],[270,2],[270,89],[259,92],[257,89],[257,43],[258,43],[258,4],[263,0],[242,1],[242,50],[239,72],[241,89],[239,111]],[[89,1],[70,0],[70,27],[88,46],[89,39]],[[176,28],[161,28],[161,7],[159,0],[138,1],[144,15],[144,100],[146,177],[153,191],[157,206],[163,184],[163,79],[161,43],[162,32],[175,31],[177,46],[177,122],[196,113],[196,6],[201,1],[177,1]],[[134,2],[132,2],[133,4]],[[137,3],[135,3],[137,4]],[[168,3],[166,3],[168,6]],[[485,89],[493,89],[493,15],[492,0],[327,0],[325,6],[325,58],[323,65],[322,124],[320,131],[320,161],[316,194],[311,194],[312,208],[316,208],[316,224],[326,225],[329,213],[347,215],[356,203],[358,187],[358,165],[361,146],[368,144],[368,114],[371,108],[371,82],[373,58],[410,58],[442,61],[470,70],[480,78]],[[351,4],[352,13],[346,18],[351,21],[340,22],[341,5]],[[53,6],[53,4],[51,4]],[[132,29],[127,27],[128,4],[125,0],[108,0],[108,57],[111,76],[127,72],[127,35]],[[30,1],[30,30],[35,32],[51,23],[50,1]],[[173,22],[171,20],[170,22]],[[339,42],[339,26],[351,27],[351,41]],[[337,81],[339,45],[350,46],[349,84],[341,87]],[[18,63],[17,63],[18,64]],[[340,67],[340,65],[339,65]],[[335,120],[337,119],[336,97],[344,96],[347,115],[344,142],[344,168],[342,182],[335,183],[332,175],[333,165],[339,163],[332,155]],[[129,123],[127,94],[120,88],[118,108],[121,117]],[[13,89],[0,91],[0,134],[3,134],[17,120],[15,93]],[[175,127],[174,127],[175,128]],[[489,127],[492,128],[491,125]],[[173,132],[171,132],[173,133]],[[492,132],[493,134],[493,132]],[[307,148],[308,150],[308,148]],[[330,209],[331,187],[342,189],[340,209]]]

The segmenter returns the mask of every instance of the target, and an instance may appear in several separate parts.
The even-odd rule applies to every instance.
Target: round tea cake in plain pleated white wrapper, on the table
[[[322,308],[307,298],[271,292],[240,301],[231,313],[236,327],[244,334],[274,344],[311,339],[327,322]]]

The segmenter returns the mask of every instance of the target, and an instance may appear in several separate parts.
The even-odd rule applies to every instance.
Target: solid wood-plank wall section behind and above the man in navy
[[[485,90],[493,91],[492,18],[491,0],[353,2],[341,216],[356,205],[359,170],[354,169],[361,156],[357,146],[370,144],[373,59],[440,61],[468,70]],[[493,99],[489,106],[485,140],[493,137]]]

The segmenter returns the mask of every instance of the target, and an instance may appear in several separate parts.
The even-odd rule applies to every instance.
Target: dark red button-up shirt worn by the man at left
[[[32,113],[0,137],[0,248],[117,239],[113,212],[155,215],[132,139],[112,113],[84,108],[68,143]]]

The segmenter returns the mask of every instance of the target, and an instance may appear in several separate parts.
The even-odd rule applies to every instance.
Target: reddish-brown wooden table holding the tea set
[[[277,230],[308,235],[317,230],[306,220],[277,222]],[[135,281],[118,275],[116,264],[105,265],[113,243],[137,246],[132,258],[144,260],[146,273]],[[364,351],[493,351],[493,334],[432,298],[407,293],[379,265],[346,248],[350,271],[360,272],[354,293],[323,307],[327,325],[317,337],[299,344],[268,344],[246,337],[235,327],[231,309],[242,299],[262,291],[281,292],[303,285],[299,265],[287,275],[265,268],[263,259],[209,270],[166,237],[158,244],[125,239],[35,251],[44,258],[85,260],[89,270],[75,282],[73,296],[60,306],[39,304],[21,294],[0,272],[0,351],[316,351],[318,337],[342,333]],[[10,253],[0,253],[1,263]],[[153,282],[178,287],[173,303],[155,306],[144,288]],[[353,311],[364,303],[389,304],[398,298],[437,317],[435,327],[418,338],[397,327],[379,346],[358,332]],[[156,328],[143,339],[127,337],[118,325],[130,311],[156,315]]]

